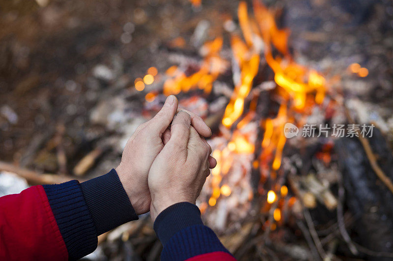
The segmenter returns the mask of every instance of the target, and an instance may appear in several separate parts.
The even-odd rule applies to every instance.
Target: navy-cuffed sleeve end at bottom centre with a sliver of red
[[[216,234],[203,225],[196,205],[181,202],[160,213],[154,230],[164,245],[161,260],[235,260]]]

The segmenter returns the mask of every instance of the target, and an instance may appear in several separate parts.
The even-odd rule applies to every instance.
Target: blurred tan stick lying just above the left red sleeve
[[[0,161],[0,170],[9,171],[25,178],[29,184],[56,184],[73,180],[72,177],[59,176],[56,174],[40,174],[27,168],[18,167],[10,163]]]

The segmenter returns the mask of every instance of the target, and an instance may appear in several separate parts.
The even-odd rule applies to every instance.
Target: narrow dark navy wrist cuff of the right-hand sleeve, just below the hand
[[[173,235],[193,225],[203,225],[198,207],[189,202],[180,202],[161,212],[154,221],[153,228],[165,246]]]

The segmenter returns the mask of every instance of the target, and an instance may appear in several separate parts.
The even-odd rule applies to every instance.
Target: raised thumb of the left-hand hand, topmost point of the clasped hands
[[[163,134],[177,111],[178,101],[174,95],[169,95],[161,110],[149,121],[149,128],[153,135]]]

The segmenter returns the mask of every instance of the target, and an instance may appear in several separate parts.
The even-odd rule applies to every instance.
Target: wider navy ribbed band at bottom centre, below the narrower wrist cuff
[[[228,250],[210,228],[204,225],[186,227],[173,235],[161,253],[161,261],[181,261],[198,255]]]

